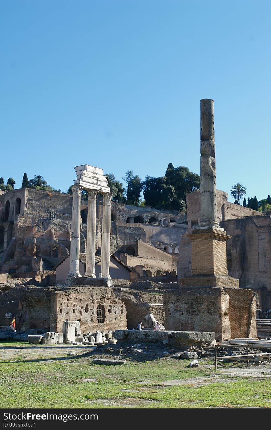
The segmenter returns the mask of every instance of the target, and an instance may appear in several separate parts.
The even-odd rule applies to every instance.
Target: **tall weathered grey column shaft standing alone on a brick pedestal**
[[[214,101],[200,100],[200,226],[218,226]]]

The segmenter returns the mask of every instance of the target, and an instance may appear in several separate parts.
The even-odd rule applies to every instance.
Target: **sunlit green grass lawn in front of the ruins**
[[[22,346],[28,354],[32,348],[26,343],[1,342],[0,352],[3,346]],[[271,407],[268,378],[234,377],[234,381],[220,375],[222,382],[199,387],[191,383],[162,387],[162,381],[217,375],[204,366],[187,368],[190,360],[127,360],[126,365],[105,366],[93,365],[92,356],[83,353],[68,356],[71,351],[63,348],[62,357],[50,362],[45,361],[50,359],[45,353],[33,354],[34,361],[22,356],[1,359],[0,408]],[[87,378],[97,382],[83,382]]]

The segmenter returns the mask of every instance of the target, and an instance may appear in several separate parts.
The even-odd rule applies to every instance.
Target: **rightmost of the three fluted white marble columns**
[[[110,227],[111,227],[111,197],[112,194],[103,195],[102,207],[102,278],[110,278]]]

